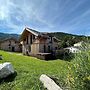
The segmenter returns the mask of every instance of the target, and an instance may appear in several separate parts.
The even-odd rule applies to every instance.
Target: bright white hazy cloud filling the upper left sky
[[[41,1],[43,6],[44,2],[45,0]],[[40,3],[37,4],[37,2],[34,2],[33,0],[22,0],[22,2],[19,0],[0,1],[0,21],[4,21],[4,25],[12,28],[12,31],[16,30],[17,32],[20,32],[20,27],[23,28],[33,21],[38,21],[45,24],[47,27],[52,28],[53,25],[47,22],[43,16],[44,11],[41,10]],[[15,22],[18,22],[18,24]]]

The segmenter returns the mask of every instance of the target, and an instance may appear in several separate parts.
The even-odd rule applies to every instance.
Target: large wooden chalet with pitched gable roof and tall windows
[[[50,33],[41,33],[25,28],[21,35],[22,53],[25,55],[38,55],[55,53],[58,49],[58,39]]]

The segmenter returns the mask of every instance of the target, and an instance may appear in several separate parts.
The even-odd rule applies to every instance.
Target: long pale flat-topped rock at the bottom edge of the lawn
[[[51,78],[47,75],[42,74],[40,81],[44,84],[44,87],[48,90],[62,90]]]

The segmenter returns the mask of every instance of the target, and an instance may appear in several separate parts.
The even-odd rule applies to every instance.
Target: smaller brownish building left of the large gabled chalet
[[[11,51],[11,52],[20,52],[20,43],[14,38],[5,39],[2,42],[0,42],[0,49],[5,51]]]

